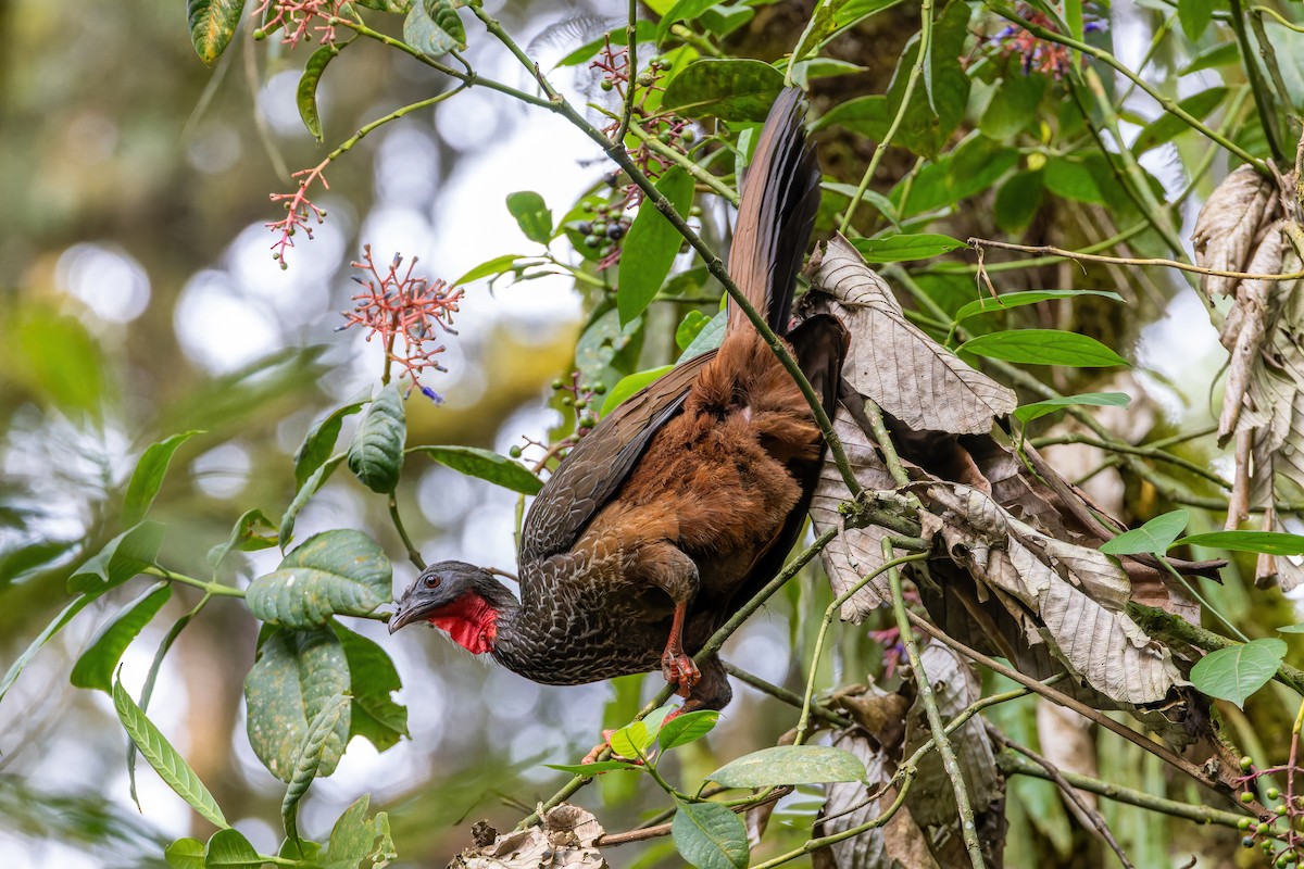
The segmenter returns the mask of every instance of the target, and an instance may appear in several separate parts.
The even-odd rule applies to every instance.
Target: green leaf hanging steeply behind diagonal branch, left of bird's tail
[[[662,175],[656,189],[670,201],[678,215],[689,214],[692,206],[692,176],[681,167],[672,167]],[[629,235],[625,236],[617,272],[615,305],[622,326],[631,323],[652,304],[665,276],[670,274],[682,241],[683,237],[656,203],[644,198],[630,224]]]

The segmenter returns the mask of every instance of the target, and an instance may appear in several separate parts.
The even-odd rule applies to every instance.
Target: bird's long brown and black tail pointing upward
[[[775,100],[742,181],[729,275],[769,327],[788,331],[793,289],[819,207],[819,164],[806,138],[806,99],[795,87]],[[750,330],[742,309],[729,311],[726,335]]]

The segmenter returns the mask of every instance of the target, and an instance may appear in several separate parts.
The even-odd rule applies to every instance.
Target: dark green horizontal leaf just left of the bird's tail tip
[[[698,60],[675,76],[661,108],[685,117],[764,121],[784,89],[784,74],[759,60]]]

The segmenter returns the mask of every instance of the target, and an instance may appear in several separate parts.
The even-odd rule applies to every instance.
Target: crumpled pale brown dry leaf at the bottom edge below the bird
[[[602,833],[602,825],[589,812],[563,803],[544,814],[542,826],[467,848],[449,869],[606,869],[606,860],[593,844]]]

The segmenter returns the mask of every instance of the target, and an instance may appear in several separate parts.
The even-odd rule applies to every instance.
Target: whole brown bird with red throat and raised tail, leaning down
[[[789,330],[819,206],[806,99],[777,96],[742,180],[729,275],[833,414],[849,336],[816,314]],[[679,713],[722,709],[724,663],[692,655],[773,578],[801,535],[824,439],[810,404],[737,305],[717,350],[605,416],[526,517],[519,601],[485,568],[439,562],[398,601],[390,633],[426,621],[544,684],[660,668]]]

